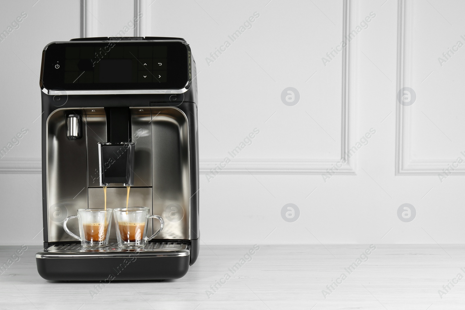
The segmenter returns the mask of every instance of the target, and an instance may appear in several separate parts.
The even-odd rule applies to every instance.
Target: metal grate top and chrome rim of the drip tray
[[[188,244],[183,242],[149,242],[144,248],[124,249],[117,242],[109,242],[108,246],[84,248],[80,244],[55,244],[36,254],[36,258],[64,258],[64,257],[160,257],[189,255]]]

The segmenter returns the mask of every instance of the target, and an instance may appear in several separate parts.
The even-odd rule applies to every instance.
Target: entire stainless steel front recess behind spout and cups
[[[49,242],[74,240],[63,230],[66,216],[77,214],[80,208],[104,204],[103,189],[99,186],[98,142],[106,142],[105,110],[73,109],[83,115],[80,140],[66,139],[63,110],[53,112],[46,124]],[[164,219],[165,228],[156,239],[191,239],[186,115],[176,107],[132,107],[130,111],[131,139],[136,145],[129,205],[152,205],[152,214]],[[107,207],[125,206],[126,188],[109,187]],[[79,234],[77,220],[69,221],[68,227]],[[116,237],[114,231],[113,224],[112,238]]]

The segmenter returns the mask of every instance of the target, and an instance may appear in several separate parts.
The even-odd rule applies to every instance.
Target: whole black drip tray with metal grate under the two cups
[[[190,241],[153,241],[141,249],[118,243],[84,248],[77,243],[54,244],[38,252],[37,271],[46,280],[165,280],[183,277],[190,264]]]

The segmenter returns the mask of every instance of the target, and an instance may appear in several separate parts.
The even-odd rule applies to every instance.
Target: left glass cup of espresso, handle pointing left
[[[79,209],[78,215],[65,218],[63,228],[71,236],[81,241],[83,247],[108,245],[108,236],[112,227],[113,209]],[[80,237],[66,227],[68,220],[78,218]]]

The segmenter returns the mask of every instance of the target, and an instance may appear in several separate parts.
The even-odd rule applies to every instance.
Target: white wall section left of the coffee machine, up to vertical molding
[[[19,28],[0,42],[0,148],[7,146],[22,128],[28,129],[20,144],[0,158],[0,244],[43,242],[39,233],[42,49],[49,42],[80,36],[79,1],[36,1],[4,1],[0,10],[1,31],[7,30],[22,12],[27,14]]]

